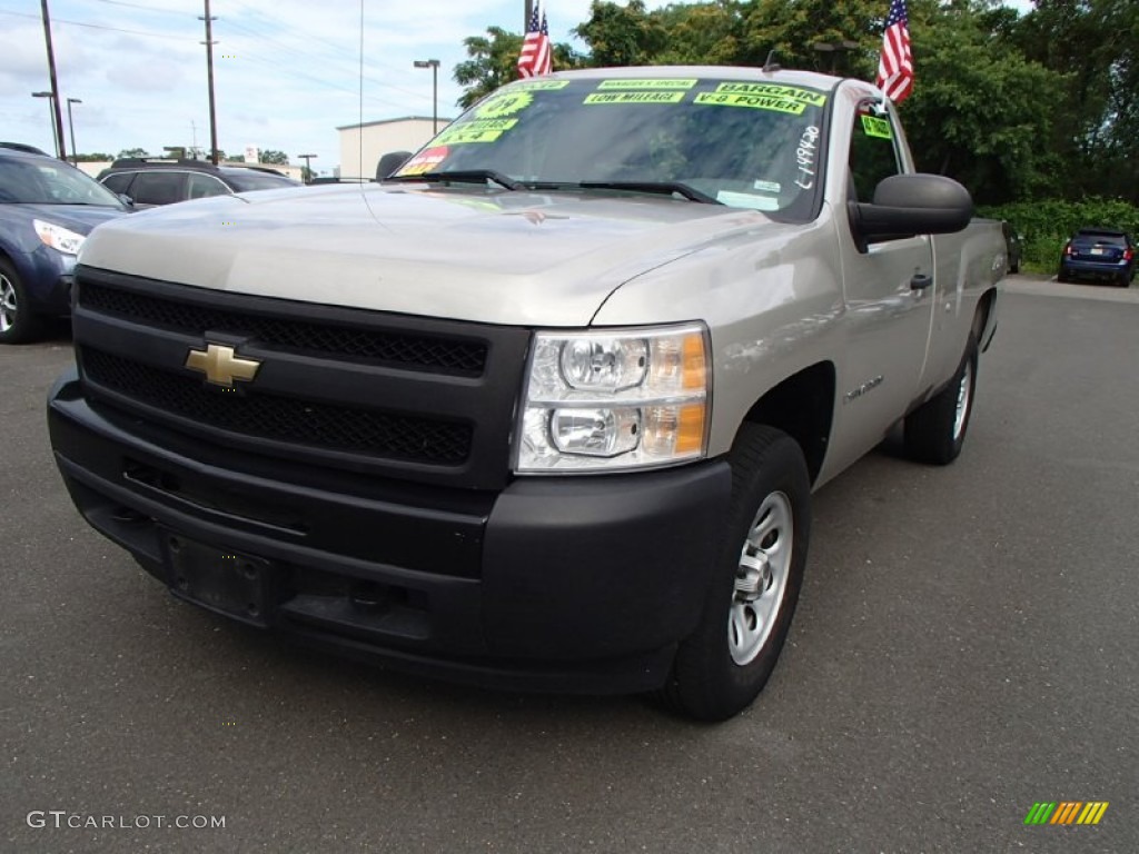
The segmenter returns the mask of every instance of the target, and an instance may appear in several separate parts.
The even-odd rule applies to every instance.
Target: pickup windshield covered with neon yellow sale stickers
[[[826,101],[814,89],[738,80],[521,81],[467,112],[395,178],[483,172],[527,189],[656,189],[809,219]]]

